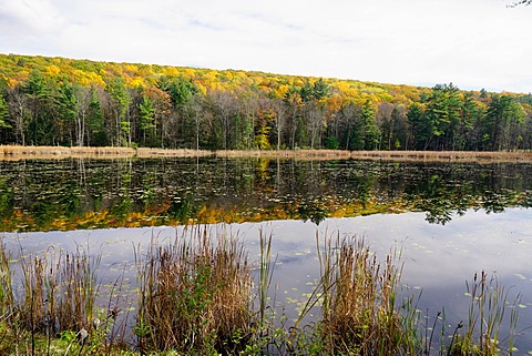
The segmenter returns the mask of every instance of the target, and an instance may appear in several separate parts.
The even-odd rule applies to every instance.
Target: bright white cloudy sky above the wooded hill
[[[0,52],[532,92],[512,0],[0,0]]]

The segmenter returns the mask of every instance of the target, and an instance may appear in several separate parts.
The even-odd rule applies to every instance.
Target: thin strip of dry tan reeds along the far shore
[[[480,151],[342,151],[342,150],[270,150],[206,151],[151,148],[63,148],[0,145],[0,161],[62,159],[156,159],[156,157],[277,157],[295,160],[369,160],[397,162],[515,162],[531,163],[532,152]]]

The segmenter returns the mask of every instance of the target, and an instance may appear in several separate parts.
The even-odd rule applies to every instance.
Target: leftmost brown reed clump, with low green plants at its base
[[[54,355],[106,349],[100,255],[54,251],[13,258],[0,244],[0,354]],[[100,312],[101,311],[101,312]],[[109,325],[109,323],[105,323]],[[111,347],[109,347],[110,349]]]

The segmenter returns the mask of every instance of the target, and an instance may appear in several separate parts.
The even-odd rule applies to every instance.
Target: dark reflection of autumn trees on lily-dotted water
[[[341,207],[357,215],[398,201],[444,224],[468,208],[501,212],[532,202],[529,164],[70,159],[0,162],[0,218],[9,228],[91,227],[75,222],[91,214],[104,216],[99,227],[186,222],[201,213],[224,220],[224,211],[319,223]]]

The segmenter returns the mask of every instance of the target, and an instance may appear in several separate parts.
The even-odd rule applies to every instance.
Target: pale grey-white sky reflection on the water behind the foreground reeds
[[[328,218],[319,226],[297,221],[275,221],[262,224],[244,223],[228,228],[245,240],[249,258],[258,260],[258,230],[273,233],[273,254],[277,255],[274,285],[276,299],[295,305],[309,292],[309,282],[319,278],[316,256],[316,232],[324,235],[357,234],[379,256],[397,242],[403,247],[402,282],[422,287],[420,308],[433,315],[446,307],[449,324],[467,321],[468,297],[466,281],[474,273],[497,272],[500,284],[511,287],[510,295],[522,294],[520,326],[532,326],[532,210],[508,208],[500,214],[468,211],[446,225],[432,225],[423,213],[370,215],[355,218]],[[99,276],[113,281],[122,271],[134,282],[134,250],[145,251],[152,237],[158,242],[181,236],[181,227],[119,228],[74,232],[4,234],[4,243],[20,244],[27,250],[75,251],[76,246],[91,253],[102,252]],[[417,289],[409,293],[418,293]],[[510,297],[513,301],[513,297]],[[291,317],[294,314],[288,313]],[[532,333],[518,338],[522,347],[532,349]]]

